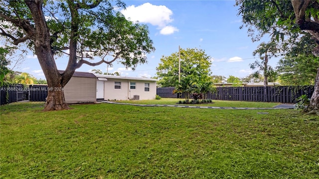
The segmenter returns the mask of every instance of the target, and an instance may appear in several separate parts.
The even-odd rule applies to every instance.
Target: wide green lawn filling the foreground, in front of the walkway
[[[319,176],[319,119],[297,110],[71,107],[1,106],[1,179]]]

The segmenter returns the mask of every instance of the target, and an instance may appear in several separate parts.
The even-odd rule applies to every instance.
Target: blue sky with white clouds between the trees
[[[125,0],[127,9],[122,11],[131,20],[139,20],[149,26],[150,37],[156,51],[148,54],[148,63],[140,65],[135,71],[123,65],[113,64],[109,73],[120,72],[121,76],[154,77],[156,67],[162,56],[169,56],[181,48],[198,48],[212,58],[212,75],[245,77],[253,70],[249,64],[254,59],[252,52],[262,41],[252,42],[247,29],[239,29],[241,17],[237,16],[235,0]],[[271,59],[275,67],[277,59]],[[67,58],[56,60],[59,70],[64,70]],[[89,72],[100,69],[107,72],[107,65],[91,67],[83,65],[77,71]],[[37,79],[45,79],[35,56],[28,54],[22,65],[15,71],[27,72]]]

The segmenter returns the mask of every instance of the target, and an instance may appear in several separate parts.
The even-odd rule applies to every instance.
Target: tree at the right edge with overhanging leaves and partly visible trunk
[[[248,28],[248,36],[258,41],[271,34],[273,42],[283,42],[282,50],[287,53],[291,44],[301,34],[310,34],[316,43],[313,54],[319,56],[319,1],[318,0],[236,0],[243,27]],[[285,40],[286,39],[286,40]],[[315,91],[309,110],[319,110],[319,68],[315,79]]]

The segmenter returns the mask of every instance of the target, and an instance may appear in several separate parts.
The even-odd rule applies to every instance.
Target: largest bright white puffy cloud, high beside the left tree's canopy
[[[132,21],[150,23],[160,29],[160,34],[169,35],[178,31],[176,27],[168,25],[173,21],[171,15],[173,12],[165,5],[153,5],[149,2],[139,6],[130,5],[121,12],[126,18]]]

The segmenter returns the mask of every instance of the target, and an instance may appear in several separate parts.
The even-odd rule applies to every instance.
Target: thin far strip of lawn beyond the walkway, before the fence
[[[185,99],[177,99],[177,98],[161,98],[154,100],[117,100],[114,102],[121,103],[133,103],[133,104],[169,104],[176,105],[178,101]],[[246,102],[246,101],[222,101],[222,100],[213,100],[213,103],[206,104],[178,104],[178,105],[193,105],[193,106],[215,106],[215,107],[274,107],[280,103],[278,102]]]

